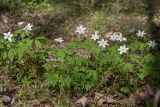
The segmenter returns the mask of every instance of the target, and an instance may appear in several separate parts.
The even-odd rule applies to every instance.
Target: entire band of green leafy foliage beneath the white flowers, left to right
[[[4,73],[20,82],[29,78],[60,91],[84,93],[109,73],[126,79],[159,77],[160,56],[156,48],[149,48],[145,39],[133,38],[127,43],[129,52],[119,54],[119,42],[101,48],[88,39],[72,40],[61,48],[46,48],[45,38],[33,38],[30,31],[17,30],[13,35],[12,42],[1,35],[0,64]]]

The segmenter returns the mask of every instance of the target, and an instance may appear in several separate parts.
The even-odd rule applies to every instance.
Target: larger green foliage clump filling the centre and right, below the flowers
[[[151,53],[145,43],[140,41],[131,43],[127,55],[120,55],[117,52],[118,47],[113,45],[108,49],[101,49],[92,41],[72,41],[65,50],[57,49],[53,54],[62,61],[59,61],[54,69],[50,68],[45,82],[62,90],[85,92],[105,79],[105,74],[108,73],[121,74],[124,78],[136,76],[137,79],[143,80],[158,72],[159,55],[156,51]],[[77,55],[74,52],[76,48],[87,51],[90,57]],[[48,67],[51,66],[46,66],[47,69]],[[154,77],[158,79],[158,75]]]

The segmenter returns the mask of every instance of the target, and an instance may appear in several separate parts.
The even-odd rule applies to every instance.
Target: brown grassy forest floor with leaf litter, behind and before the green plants
[[[132,28],[142,27],[145,29],[147,23],[147,16],[145,15],[133,17],[131,15],[120,14],[116,16],[108,15],[103,11],[74,15],[63,11],[52,13],[48,12],[48,10],[32,12],[16,10],[4,12],[0,15],[0,32],[12,31],[18,27],[18,22],[25,21],[33,24],[35,37],[45,35],[49,38],[46,43],[47,47],[52,46],[53,40],[57,37],[63,37],[66,41],[73,39],[73,32],[80,24],[90,28],[88,35],[97,28],[104,35],[105,32],[109,31],[122,31],[123,34],[127,35]],[[160,24],[159,18],[156,18],[157,24]],[[129,82],[132,82],[133,78]],[[2,102],[7,102],[9,103],[8,107],[12,107],[10,105],[16,102],[19,103],[18,105],[23,103],[22,105],[26,105],[27,107],[75,107],[77,106],[75,103],[79,103],[82,107],[87,107],[87,104],[91,104],[92,107],[129,107],[133,106],[130,103],[132,102],[136,103],[135,107],[150,107],[150,100],[154,100],[156,92],[153,91],[155,87],[152,88],[146,80],[139,80],[137,90],[130,93],[122,93],[119,89],[119,83],[126,84],[126,80],[114,73],[107,74],[106,78],[95,88],[84,95],[80,95],[71,92],[58,93],[54,89],[45,88],[43,84],[38,83],[33,86],[30,86],[29,83],[21,84],[14,77],[8,77],[0,72],[0,82],[5,83],[6,89],[9,89],[7,92],[9,95],[4,96],[0,92],[0,106],[3,107]],[[3,90],[3,88],[0,88],[0,90]],[[124,89],[123,91],[128,90]],[[32,96],[33,93],[36,94],[36,97]],[[27,101],[21,102],[18,99],[19,94],[26,95],[27,98],[24,97],[24,99],[26,98],[25,100]]]

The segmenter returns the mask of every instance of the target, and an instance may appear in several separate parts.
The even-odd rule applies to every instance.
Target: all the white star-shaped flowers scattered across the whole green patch
[[[19,26],[21,26],[23,24],[24,24],[24,22],[18,23]],[[30,30],[32,30],[32,25],[30,23],[28,23],[22,30],[30,31]],[[75,30],[75,32],[78,34],[85,34],[85,31],[86,31],[86,28],[83,27],[83,25],[80,25]],[[13,34],[11,34],[11,32],[7,32],[7,33],[3,33],[3,34],[4,34],[4,39],[6,39],[10,42],[12,41]],[[107,33],[107,35],[109,35],[109,40],[111,40],[111,41],[120,41],[120,42],[127,41],[127,38],[123,37],[121,32],[109,32],[109,33]],[[144,37],[144,35],[146,35],[146,33],[144,31],[138,30],[136,35],[138,37]],[[100,34],[98,31],[95,31],[95,33],[92,34],[91,39],[94,41],[97,41],[97,43],[99,44],[100,47],[106,48],[106,46],[109,46],[108,40],[104,40],[103,38],[100,39]],[[55,39],[55,42],[62,43],[63,41],[64,40],[62,39],[62,37]],[[155,42],[155,40],[153,40],[153,41],[150,40],[148,42],[148,45],[149,45],[149,47],[154,48],[157,45],[157,43]],[[119,51],[120,54],[123,54],[123,53],[127,53],[129,48],[127,48],[126,45],[124,44],[124,45],[120,46],[117,50]]]

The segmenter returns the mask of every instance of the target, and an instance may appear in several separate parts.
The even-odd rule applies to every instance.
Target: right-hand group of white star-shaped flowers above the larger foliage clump
[[[84,34],[85,30],[86,28],[80,25],[79,27],[76,28],[75,32],[78,34]],[[138,37],[144,37],[146,33],[144,31],[138,30],[136,35]],[[127,38],[123,37],[121,32],[109,32],[106,34],[106,36],[109,37],[109,40],[111,41],[120,41],[120,42],[127,41]],[[99,44],[100,47],[106,48],[106,46],[109,46],[108,40],[100,39],[100,34],[98,31],[95,31],[95,33],[92,34],[91,39],[94,41],[98,40],[97,43]],[[149,41],[148,45],[149,47],[155,47],[157,43],[155,42],[155,40],[153,40],[153,41]],[[127,48],[126,45],[124,44],[120,46],[117,50],[119,51],[120,54],[123,54],[123,53],[127,53],[129,48]]]

